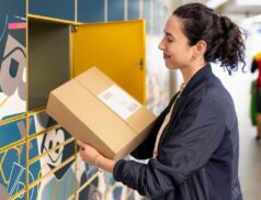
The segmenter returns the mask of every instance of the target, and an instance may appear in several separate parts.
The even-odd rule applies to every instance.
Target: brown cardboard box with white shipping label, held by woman
[[[115,160],[147,137],[156,119],[95,67],[53,90],[46,111],[72,136]]]

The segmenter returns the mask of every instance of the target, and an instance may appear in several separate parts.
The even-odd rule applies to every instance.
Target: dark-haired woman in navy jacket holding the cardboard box
[[[232,99],[209,63],[229,73],[245,58],[240,30],[212,9],[191,3],[169,18],[159,44],[166,66],[184,84],[158,116],[149,137],[132,155],[110,160],[79,142],[83,160],[151,199],[240,200],[238,121]]]

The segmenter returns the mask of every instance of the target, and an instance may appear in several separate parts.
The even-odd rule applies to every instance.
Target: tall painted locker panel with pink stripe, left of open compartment
[[[0,1],[0,121],[25,112],[25,0]]]

